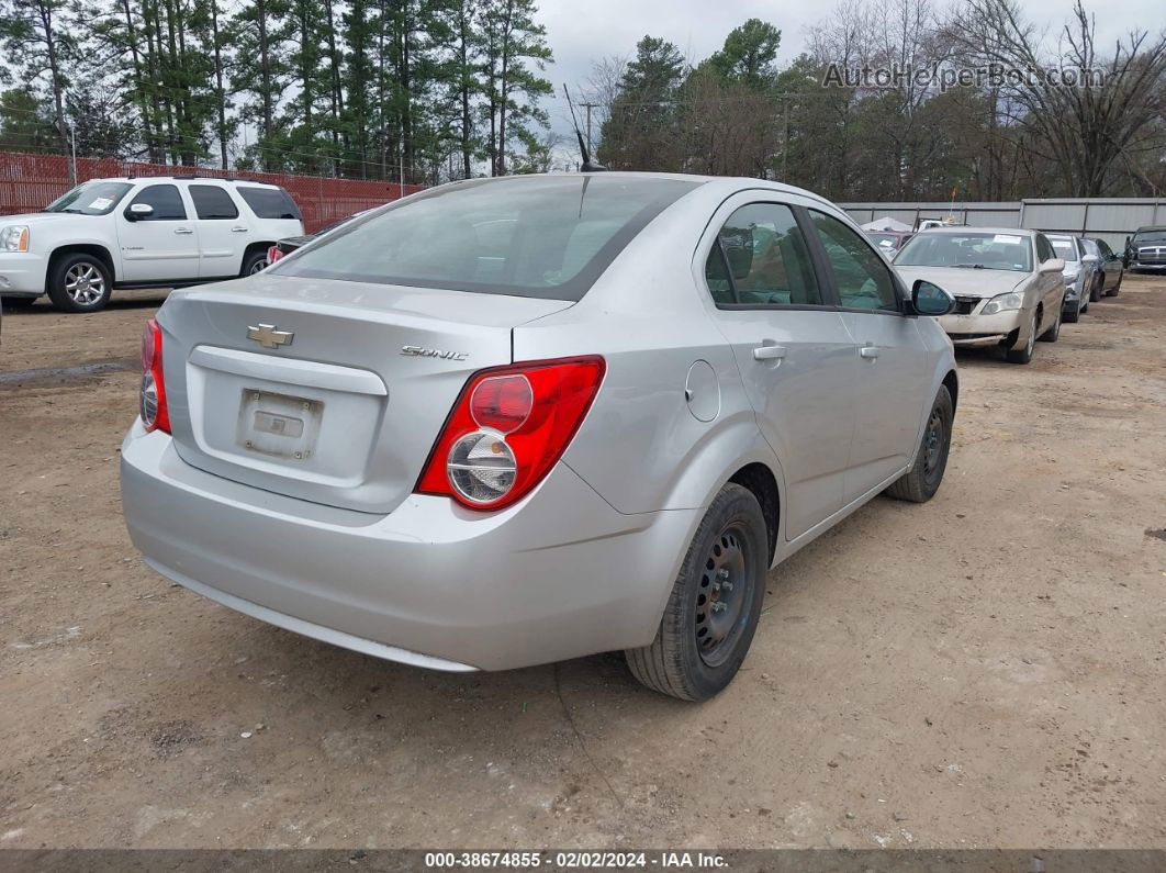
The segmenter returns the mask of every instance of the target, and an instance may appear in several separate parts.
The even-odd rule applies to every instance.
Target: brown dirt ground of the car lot
[[[1166,847],[1166,279],[1030,366],[961,354],[939,495],[773,572],[704,705],[614,654],[385,663],[145,568],[118,446],[160,302],[3,317],[0,847]]]

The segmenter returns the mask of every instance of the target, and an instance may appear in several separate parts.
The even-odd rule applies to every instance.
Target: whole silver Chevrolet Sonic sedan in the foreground
[[[767,570],[884,490],[929,499],[957,383],[844,212],[758,179],[475,179],[175,291],[122,444],[147,563],[378,657],[624,649],[732,678]]]

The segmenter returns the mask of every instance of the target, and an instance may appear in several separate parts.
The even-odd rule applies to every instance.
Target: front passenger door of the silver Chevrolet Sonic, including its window
[[[843,502],[907,465],[915,448],[930,367],[914,318],[902,315],[892,268],[843,221],[810,210],[841,317],[857,340],[855,439]]]

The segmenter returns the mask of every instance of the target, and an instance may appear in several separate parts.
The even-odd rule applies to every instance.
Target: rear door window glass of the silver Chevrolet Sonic
[[[751,203],[729,217],[709,253],[705,279],[719,305],[822,305],[801,228],[778,203]]]

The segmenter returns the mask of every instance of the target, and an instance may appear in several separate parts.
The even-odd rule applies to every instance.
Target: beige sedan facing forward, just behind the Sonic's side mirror
[[[912,238],[894,266],[906,281],[935,282],[955,296],[940,324],[957,346],[997,345],[1027,364],[1037,339],[1060,336],[1065,261],[1044,233],[935,227]]]

